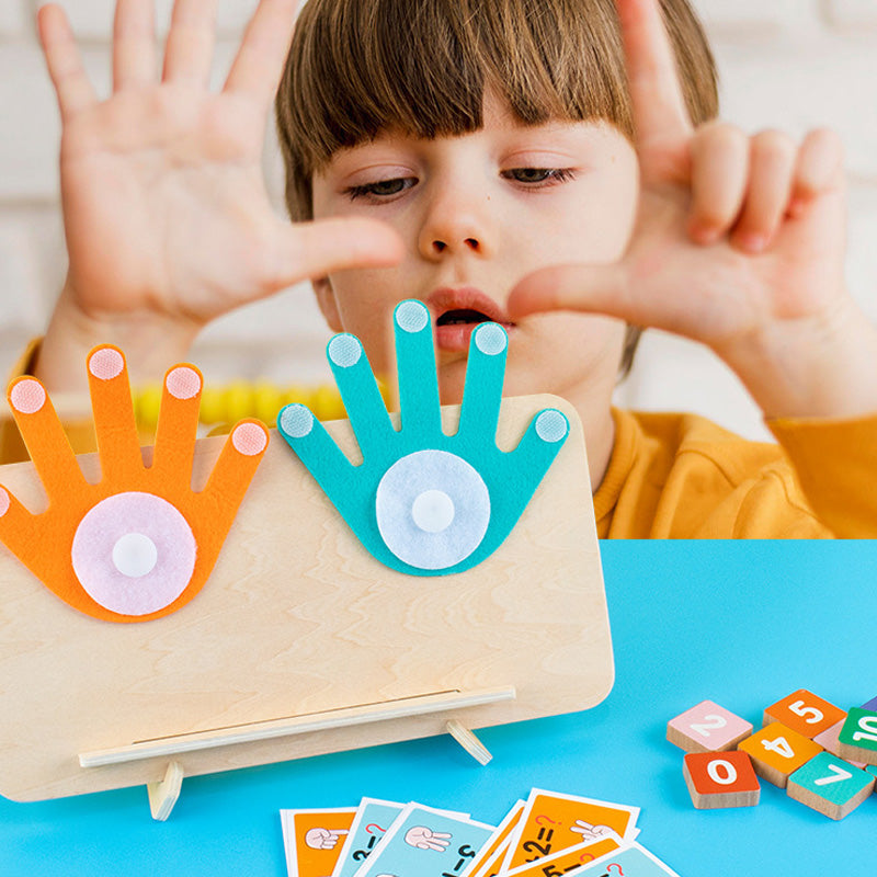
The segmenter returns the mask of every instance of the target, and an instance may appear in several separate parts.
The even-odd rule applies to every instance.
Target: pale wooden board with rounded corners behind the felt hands
[[[498,442],[513,447],[545,407],[567,414],[569,440],[501,548],[456,576],[409,577],[374,560],[276,434],[209,581],[173,615],[89,618],[0,546],[0,794],[155,783],[167,756],[81,767],[79,755],[442,692],[513,686],[516,697],[174,761],[197,775],[441,733],[448,719],[479,728],[600,703],[613,660],[581,424],[555,397],[506,399]],[[443,409],[446,431],[458,415]],[[328,429],[355,456],[350,424]],[[223,442],[198,442],[195,489]],[[80,462],[94,480],[98,459]],[[0,468],[0,483],[44,508],[30,463]]]

